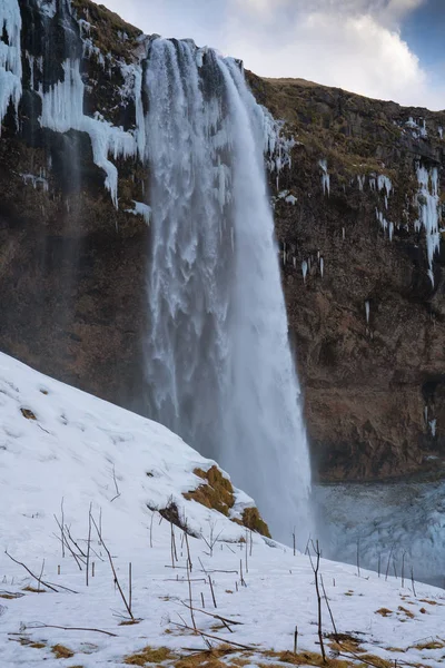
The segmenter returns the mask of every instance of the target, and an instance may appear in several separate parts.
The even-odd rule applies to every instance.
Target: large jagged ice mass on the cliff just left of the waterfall
[[[112,126],[99,114],[95,118],[83,114],[85,85],[78,60],[66,60],[63,75],[63,81],[55,84],[48,92],[43,92],[41,86],[39,88],[42,99],[40,125],[56,132],[88,132],[95,164],[106,173],[105,185],[118,208],[118,170],[108,157],[112,155],[117,159],[136,156],[137,140],[134,135]]]

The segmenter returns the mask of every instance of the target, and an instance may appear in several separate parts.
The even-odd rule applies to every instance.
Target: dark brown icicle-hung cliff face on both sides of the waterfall
[[[144,410],[146,38],[88,0],[72,11],[65,0],[19,6],[23,95],[17,114],[11,96],[0,137],[0,350]],[[249,81],[296,140],[271,191],[320,475],[437,469],[445,114],[298,80]]]

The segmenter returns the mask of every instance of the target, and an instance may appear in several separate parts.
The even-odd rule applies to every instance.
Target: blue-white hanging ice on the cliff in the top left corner
[[[7,41],[2,40],[6,31]],[[21,14],[18,0],[0,2],[0,135],[10,102],[18,112],[21,100]]]

